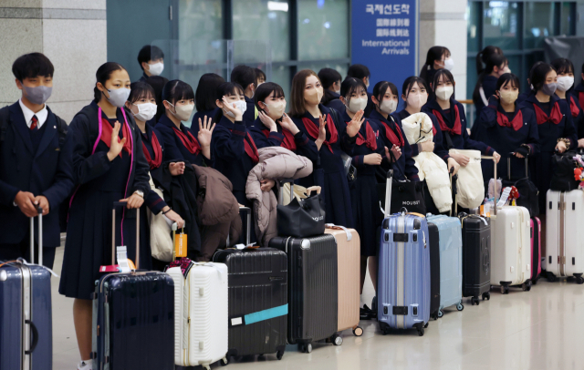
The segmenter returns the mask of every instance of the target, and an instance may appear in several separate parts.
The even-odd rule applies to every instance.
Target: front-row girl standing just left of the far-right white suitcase
[[[545,214],[546,193],[553,172],[551,158],[555,151],[563,153],[578,148],[578,137],[568,103],[556,95],[558,75],[554,67],[542,63],[534,68],[530,79],[536,94],[527,98],[520,107],[531,110],[537,120],[539,153],[529,162],[529,167],[539,190],[539,211]],[[541,221],[543,228],[545,220]]]

